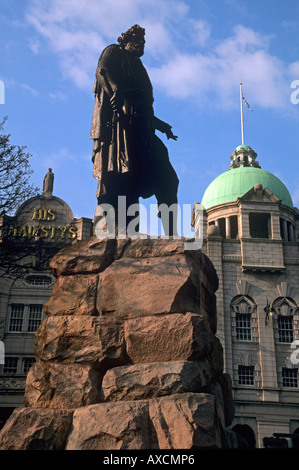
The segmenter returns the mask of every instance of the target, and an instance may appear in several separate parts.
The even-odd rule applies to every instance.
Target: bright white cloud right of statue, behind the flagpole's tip
[[[150,74],[165,92],[193,98],[203,106],[238,106],[238,87],[243,82],[252,106],[283,109],[289,104],[292,65],[268,52],[270,40],[239,25],[208,53],[176,53]]]

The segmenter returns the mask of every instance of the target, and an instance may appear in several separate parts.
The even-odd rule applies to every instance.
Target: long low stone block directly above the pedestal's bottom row
[[[211,380],[211,367],[206,359],[120,366],[106,372],[101,399],[143,400],[175,393],[198,392]]]

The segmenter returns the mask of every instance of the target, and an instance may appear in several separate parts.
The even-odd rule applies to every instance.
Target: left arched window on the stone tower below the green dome
[[[232,336],[238,341],[255,337],[256,304],[248,295],[237,295],[231,301]]]

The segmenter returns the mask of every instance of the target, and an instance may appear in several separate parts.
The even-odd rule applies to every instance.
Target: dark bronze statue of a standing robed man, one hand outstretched
[[[179,181],[155,130],[177,137],[154,115],[152,84],[140,60],[144,36],[143,28],[132,26],[119,44],[104,49],[96,69],[93,175],[99,180],[98,204],[111,204],[116,212],[118,196],[126,196],[127,207],[153,195],[158,205],[177,203]],[[162,224],[166,235],[174,233],[175,221],[166,226],[162,216]]]

